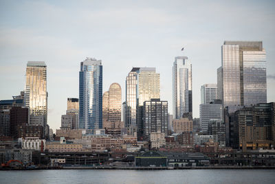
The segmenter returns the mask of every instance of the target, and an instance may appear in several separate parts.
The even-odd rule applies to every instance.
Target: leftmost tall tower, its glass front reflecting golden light
[[[42,125],[47,137],[47,65],[43,61],[27,63],[24,103],[30,109],[30,125]]]

